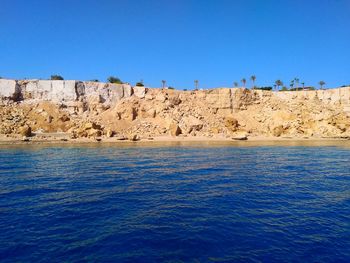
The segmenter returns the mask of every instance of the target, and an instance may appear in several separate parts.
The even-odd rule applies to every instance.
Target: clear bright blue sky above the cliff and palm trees
[[[0,0],[0,76],[51,74],[350,84],[350,0]]]

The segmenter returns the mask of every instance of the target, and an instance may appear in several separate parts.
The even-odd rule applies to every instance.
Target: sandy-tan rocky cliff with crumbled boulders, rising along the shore
[[[125,84],[0,79],[0,133],[76,137],[349,137],[350,87],[178,91]]]

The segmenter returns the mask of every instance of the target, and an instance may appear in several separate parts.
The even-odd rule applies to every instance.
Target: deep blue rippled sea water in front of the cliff
[[[350,262],[350,145],[0,146],[0,261]]]

